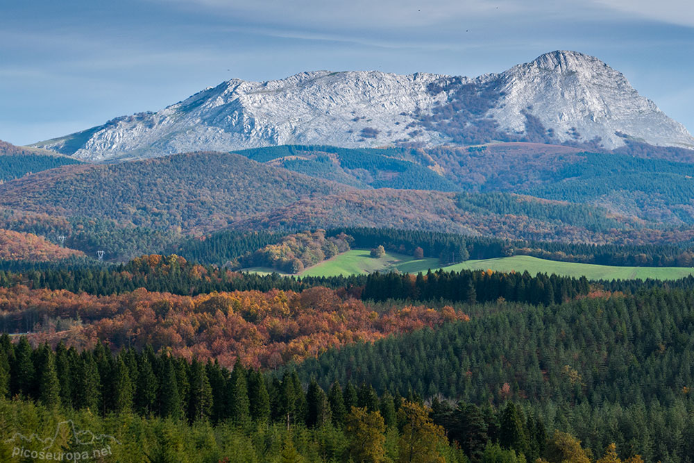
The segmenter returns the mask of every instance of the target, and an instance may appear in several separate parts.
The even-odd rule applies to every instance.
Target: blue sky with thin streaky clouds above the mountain
[[[694,133],[691,0],[0,3],[0,140],[30,144],[205,87],[301,71],[478,76],[588,53]]]

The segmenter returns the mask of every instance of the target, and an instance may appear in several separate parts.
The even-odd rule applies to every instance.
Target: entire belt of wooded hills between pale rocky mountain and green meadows
[[[242,153],[264,162],[237,153],[188,153],[109,165],[64,166],[0,185],[0,205],[50,217],[83,217],[74,224],[71,219],[70,227],[88,227],[93,235],[105,233],[105,229],[99,232],[94,228],[95,220],[97,226],[115,221],[126,227],[119,232],[119,241],[133,239],[126,236],[142,230],[146,236],[143,243],[158,236],[152,230],[196,235],[222,228],[305,230],[340,226],[592,243],[685,241],[692,235],[689,228],[663,228],[660,216],[646,217],[654,209],[634,206],[639,195],[655,198],[654,189],[669,192],[670,196],[658,196],[662,213],[670,211],[672,217],[679,217],[679,224],[691,223],[686,216],[686,188],[694,167],[674,162],[611,155],[610,159],[622,165],[609,165],[600,155],[548,147],[545,153],[529,155],[525,170],[496,169],[496,174],[505,178],[501,183],[484,170],[491,169],[494,162],[482,162],[484,169],[477,170],[471,162],[471,170],[464,175],[463,171],[455,173],[441,167],[447,161],[440,151],[284,146]],[[504,153],[484,150],[468,155],[489,155],[496,162],[505,159]],[[350,164],[349,160],[359,163]],[[555,161],[540,168],[545,160]],[[314,165],[324,168],[313,169]],[[620,183],[613,171],[625,169],[632,170],[631,177]],[[645,180],[632,181],[654,175],[661,176],[668,188]],[[339,176],[345,183],[325,180]],[[403,177],[418,179],[421,189],[404,189],[412,183],[400,182]],[[362,183],[360,187],[353,186],[357,181]],[[514,192],[536,192],[552,200]],[[570,195],[576,196],[576,203],[561,201]],[[606,198],[621,198],[621,202],[609,203]],[[627,204],[627,200],[632,203]],[[23,228],[34,229],[40,227]],[[171,239],[171,235],[159,236],[160,240]],[[77,249],[95,249],[92,246],[85,242]],[[132,248],[125,242],[119,246]]]

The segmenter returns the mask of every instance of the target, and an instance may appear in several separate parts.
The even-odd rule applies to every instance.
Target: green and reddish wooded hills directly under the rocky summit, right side
[[[588,203],[614,214],[673,226],[694,224],[694,165],[655,147],[648,157],[570,146],[498,143],[467,148],[343,149],[271,146],[238,153],[267,165],[359,189],[512,192]],[[661,158],[661,156],[663,158]]]

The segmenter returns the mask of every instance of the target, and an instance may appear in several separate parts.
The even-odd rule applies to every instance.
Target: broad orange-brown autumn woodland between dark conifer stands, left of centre
[[[101,339],[121,347],[168,350],[232,367],[277,367],[333,347],[465,320],[466,314],[421,305],[377,313],[362,301],[325,287],[301,293],[213,292],[179,296],[137,289],[114,296],[65,290],[0,288],[0,326],[33,331],[33,342],[91,348]]]

